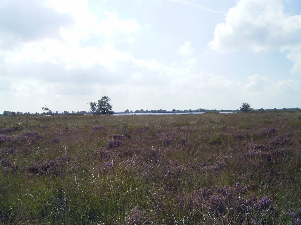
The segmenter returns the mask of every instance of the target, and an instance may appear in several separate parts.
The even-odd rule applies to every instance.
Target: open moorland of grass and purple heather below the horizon
[[[0,224],[301,224],[299,111],[0,128]]]

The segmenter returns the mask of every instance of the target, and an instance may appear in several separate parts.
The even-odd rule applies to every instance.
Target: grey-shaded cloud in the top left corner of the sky
[[[71,26],[72,16],[47,7],[45,0],[0,1],[0,49],[15,49],[24,42],[47,37],[59,38],[60,28]]]

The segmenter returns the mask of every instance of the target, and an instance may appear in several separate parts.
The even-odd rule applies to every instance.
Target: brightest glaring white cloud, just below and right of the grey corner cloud
[[[6,54],[6,63],[10,67],[14,67],[16,64],[24,61],[39,63],[47,61],[64,63],[67,69],[87,69],[99,64],[113,70],[116,67],[116,62],[131,60],[132,57],[130,57],[129,52],[113,49],[114,44],[111,37],[115,33],[130,34],[135,32],[139,29],[139,24],[134,19],[119,19],[117,13],[110,12],[105,12],[104,15],[106,17],[98,20],[95,16],[89,15],[91,14],[90,11],[82,3],[85,3],[85,1],[78,1],[79,6],[74,7],[75,12],[73,12],[73,15],[82,18],[82,14],[77,15],[77,10],[82,7],[82,13],[85,15],[83,17],[86,23],[91,25],[90,27],[86,26],[82,21],[78,23],[80,19],[75,17],[75,27],[73,29],[61,28],[63,41],[46,38],[38,42],[25,43],[19,51],[11,51]],[[62,8],[59,8],[61,11],[65,11],[63,6],[64,4]],[[92,34],[98,37],[100,35],[105,36],[103,48],[97,46],[80,47],[80,41],[88,40]],[[131,39],[125,39],[125,42],[133,40],[132,37]]]

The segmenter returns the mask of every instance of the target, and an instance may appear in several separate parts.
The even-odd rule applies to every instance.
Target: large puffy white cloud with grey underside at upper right
[[[282,0],[239,0],[216,25],[211,49],[253,52],[289,50],[287,58],[295,62],[292,71],[301,69],[301,15],[284,12]],[[296,50],[298,49],[298,50]]]

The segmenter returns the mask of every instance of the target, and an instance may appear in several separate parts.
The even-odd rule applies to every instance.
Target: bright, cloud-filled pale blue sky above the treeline
[[[301,108],[300,0],[0,0],[0,112]]]

